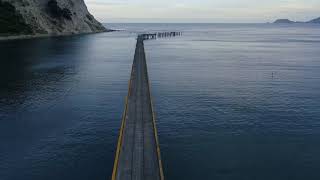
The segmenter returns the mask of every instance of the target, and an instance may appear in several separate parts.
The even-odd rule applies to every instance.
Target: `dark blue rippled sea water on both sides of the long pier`
[[[137,32],[166,179],[318,180],[320,26],[111,24],[0,42],[0,179],[110,179]]]

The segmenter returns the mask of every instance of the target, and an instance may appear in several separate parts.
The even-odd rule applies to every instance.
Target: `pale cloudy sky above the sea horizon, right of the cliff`
[[[258,23],[320,17],[320,0],[85,0],[101,22]]]

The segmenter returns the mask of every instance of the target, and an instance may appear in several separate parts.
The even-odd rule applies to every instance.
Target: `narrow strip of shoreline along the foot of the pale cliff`
[[[107,29],[105,31],[99,32],[85,32],[85,33],[63,33],[63,34],[32,34],[32,35],[13,35],[13,36],[0,36],[0,42],[2,41],[12,41],[12,40],[22,40],[22,39],[38,39],[38,38],[49,38],[49,37],[64,37],[64,36],[78,36],[85,34],[97,34],[97,33],[106,33],[114,32],[117,30]]]

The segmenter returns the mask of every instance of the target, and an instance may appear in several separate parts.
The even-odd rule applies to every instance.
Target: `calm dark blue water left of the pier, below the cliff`
[[[0,176],[108,177],[134,38],[101,34],[0,46]]]

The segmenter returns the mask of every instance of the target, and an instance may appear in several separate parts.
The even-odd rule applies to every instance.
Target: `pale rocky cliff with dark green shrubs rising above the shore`
[[[0,0],[0,20],[6,22],[0,26],[0,35],[60,35],[106,30],[88,12],[83,0]]]

